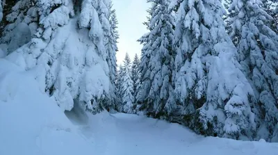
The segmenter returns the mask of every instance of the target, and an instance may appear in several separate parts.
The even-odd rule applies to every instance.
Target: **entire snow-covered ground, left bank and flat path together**
[[[0,155],[277,155],[278,143],[197,136],[179,124],[123,113],[63,113],[33,79],[0,59]]]

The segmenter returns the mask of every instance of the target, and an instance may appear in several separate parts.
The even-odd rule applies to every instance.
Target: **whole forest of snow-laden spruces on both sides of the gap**
[[[278,1],[147,3],[140,56],[117,62],[112,0],[2,0],[0,58],[63,111],[79,105],[278,142]]]

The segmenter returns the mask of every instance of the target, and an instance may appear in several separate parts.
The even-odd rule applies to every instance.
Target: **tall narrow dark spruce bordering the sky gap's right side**
[[[165,116],[164,109],[172,104],[172,69],[174,67],[174,53],[172,38],[174,17],[167,10],[169,1],[148,0],[152,3],[149,19],[150,33],[142,49],[144,55],[149,55],[147,63],[142,59],[142,94],[139,101],[143,104],[141,110],[152,117]],[[144,68],[147,67],[147,68]]]

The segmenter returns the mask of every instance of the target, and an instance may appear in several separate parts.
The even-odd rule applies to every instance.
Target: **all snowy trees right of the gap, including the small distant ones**
[[[277,1],[147,2],[140,63],[126,55],[118,70],[119,111],[277,142]]]

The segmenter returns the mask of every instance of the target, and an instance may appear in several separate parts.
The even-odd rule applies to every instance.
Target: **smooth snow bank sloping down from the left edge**
[[[32,76],[0,59],[1,155],[91,154],[90,147]]]

